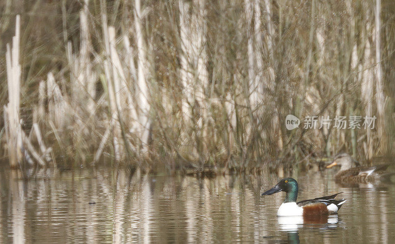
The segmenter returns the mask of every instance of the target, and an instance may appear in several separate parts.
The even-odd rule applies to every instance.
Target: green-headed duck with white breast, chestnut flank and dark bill
[[[272,189],[262,193],[264,195],[272,195],[277,192],[286,192],[285,201],[278,208],[277,216],[309,216],[309,215],[329,215],[337,213],[346,199],[335,200],[340,194],[333,194],[304,200],[296,203],[298,197],[298,182],[293,178],[284,178],[280,180]]]

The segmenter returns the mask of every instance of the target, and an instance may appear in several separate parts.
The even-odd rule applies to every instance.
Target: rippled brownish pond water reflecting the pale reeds
[[[276,174],[130,176],[127,170],[0,171],[0,243],[391,243],[395,185],[338,185],[333,171],[292,173],[298,200],[344,192],[338,215],[277,218]],[[89,204],[89,203],[95,204]]]

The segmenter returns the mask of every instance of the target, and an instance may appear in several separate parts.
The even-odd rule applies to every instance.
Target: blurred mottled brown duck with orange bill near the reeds
[[[389,166],[389,164],[382,164],[366,168],[353,167],[353,159],[347,153],[337,155],[326,168],[336,165],[340,165],[340,169],[335,175],[335,181],[340,183],[367,183],[380,180],[383,175],[378,172],[386,170]]]

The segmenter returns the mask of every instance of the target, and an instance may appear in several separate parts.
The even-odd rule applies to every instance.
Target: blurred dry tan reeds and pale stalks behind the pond
[[[2,0],[0,9],[0,153],[12,167],[222,172],[393,153],[391,0]],[[288,114],[377,120],[287,130]]]

